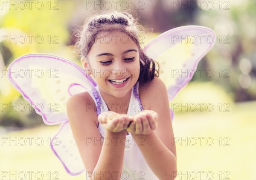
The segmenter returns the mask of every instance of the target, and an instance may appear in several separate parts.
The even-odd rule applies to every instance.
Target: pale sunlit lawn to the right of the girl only
[[[230,112],[177,114],[175,137],[188,139],[187,144],[176,143],[177,179],[211,179],[213,174],[214,180],[255,180],[255,105],[231,104]]]

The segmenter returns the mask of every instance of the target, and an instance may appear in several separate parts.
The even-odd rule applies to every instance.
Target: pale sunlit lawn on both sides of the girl
[[[176,179],[255,180],[255,109],[254,101],[231,104],[229,112],[196,111],[175,114],[173,129],[176,140],[179,140],[176,142],[179,173]],[[40,174],[35,177],[35,173],[41,171],[44,175],[43,180],[54,179],[54,177],[59,180],[84,179],[85,173],[79,176],[68,175],[52,153],[48,138],[53,137],[57,131],[58,126],[41,126],[2,134],[0,179],[9,179],[9,175],[15,174],[15,171],[17,178],[19,175],[23,178],[24,173],[21,171],[24,171],[26,179],[29,179],[28,171],[33,171],[31,179],[39,179]],[[28,137],[34,137],[31,146]],[[35,144],[37,137],[43,139],[42,146]],[[4,143],[6,138],[12,140],[17,138],[20,144],[24,139],[27,142],[25,146],[19,144],[15,146],[15,143],[9,145],[9,139]],[[40,143],[39,140],[38,143]],[[213,178],[212,175],[214,175]],[[15,179],[15,175],[11,178]]]

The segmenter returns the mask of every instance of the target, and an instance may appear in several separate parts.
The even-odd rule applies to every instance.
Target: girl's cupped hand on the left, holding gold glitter
[[[102,127],[111,132],[126,131],[128,124],[133,121],[133,116],[127,114],[118,114],[113,111],[102,112],[98,116]]]

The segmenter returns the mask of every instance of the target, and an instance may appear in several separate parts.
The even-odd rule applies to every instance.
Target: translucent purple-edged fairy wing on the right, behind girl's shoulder
[[[198,62],[212,48],[214,31],[203,26],[181,26],[160,34],[143,49],[160,65],[169,101],[192,79]]]

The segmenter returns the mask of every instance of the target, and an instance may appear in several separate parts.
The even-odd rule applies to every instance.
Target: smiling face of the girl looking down
[[[114,97],[124,97],[130,92],[140,75],[139,49],[120,31],[100,33],[87,59],[81,61],[101,93]]]

